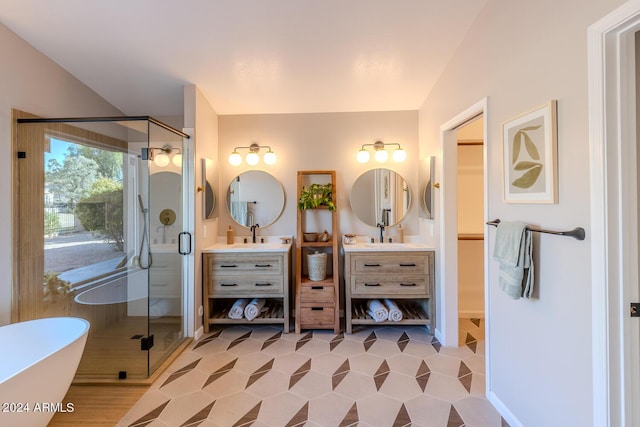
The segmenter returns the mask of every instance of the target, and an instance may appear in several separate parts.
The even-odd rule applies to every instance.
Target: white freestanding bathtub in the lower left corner
[[[64,397],[78,369],[89,322],[74,317],[0,327],[0,426],[46,426],[73,412]]]

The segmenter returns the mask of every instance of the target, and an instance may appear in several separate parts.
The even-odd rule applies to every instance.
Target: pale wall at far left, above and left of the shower
[[[0,24],[0,325],[11,320],[12,164],[11,109],[43,117],[121,115],[115,107]]]

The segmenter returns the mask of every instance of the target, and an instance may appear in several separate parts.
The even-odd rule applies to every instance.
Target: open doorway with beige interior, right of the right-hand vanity
[[[483,116],[457,129],[458,168],[458,345],[475,349],[484,319],[484,129]],[[479,327],[480,336],[463,332]],[[475,333],[478,335],[478,333]]]

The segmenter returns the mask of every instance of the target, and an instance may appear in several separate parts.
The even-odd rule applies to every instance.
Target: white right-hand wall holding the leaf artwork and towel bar
[[[588,226],[587,27],[621,3],[489,0],[426,99],[421,155],[439,152],[441,124],[488,96],[490,218]],[[505,204],[501,123],[550,99],[558,100],[559,203]],[[489,230],[489,250],[494,235]],[[497,290],[489,263],[490,398],[510,411],[511,425],[592,425],[589,230],[582,242],[535,234],[534,247],[533,299],[514,301]]]

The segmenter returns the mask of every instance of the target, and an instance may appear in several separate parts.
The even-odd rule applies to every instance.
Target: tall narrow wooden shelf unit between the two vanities
[[[315,170],[298,171],[297,199],[300,199],[303,186],[313,183],[332,184],[332,199],[336,203],[336,173],[335,171]],[[340,332],[340,287],[338,280],[338,213],[327,207],[297,209],[297,238],[296,238],[296,292],[295,292],[295,331],[302,329],[333,329]],[[310,230],[307,227],[318,227],[310,224],[309,216],[317,216],[319,222],[327,224],[327,231],[331,237],[328,242],[305,242],[303,234],[307,232],[321,232],[321,229]],[[330,218],[329,218],[330,217]],[[313,281],[307,275],[306,255],[318,252],[327,253],[327,277],[324,280]]]

